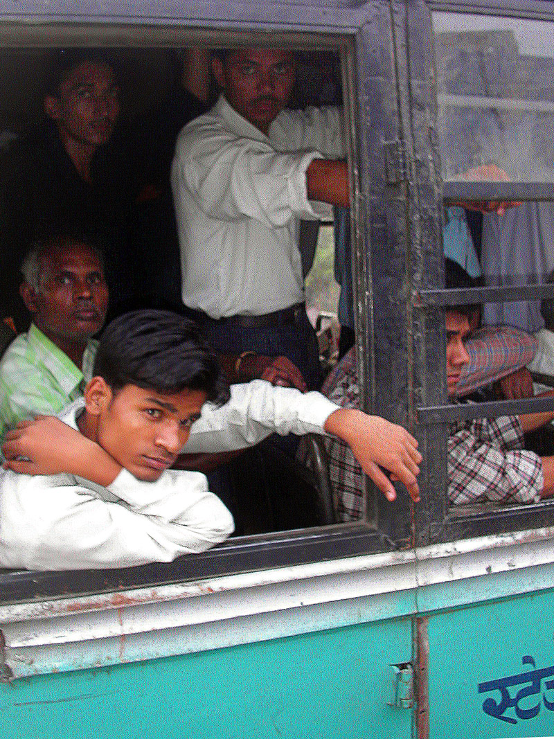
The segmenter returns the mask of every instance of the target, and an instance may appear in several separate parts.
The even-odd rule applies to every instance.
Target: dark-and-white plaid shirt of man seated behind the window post
[[[346,408],[360,406],[355,353],[350,350],[327,378],[322,392]],[[363,511],[363,471],[341,439],[326,438],[329,477],[341,521],[357,520]],[[460,421],[448,437],[448,498],[454,505],[485,500],[530,503],[543,487],[540,457],[523,447],[519,420],[502,418]]]

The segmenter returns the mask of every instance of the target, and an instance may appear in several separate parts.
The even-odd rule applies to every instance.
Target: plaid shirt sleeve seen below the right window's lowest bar
[[[541,458],[522,446],[523,432],[515,416],[456,423],[448,437],[450,502],[540,500]]]

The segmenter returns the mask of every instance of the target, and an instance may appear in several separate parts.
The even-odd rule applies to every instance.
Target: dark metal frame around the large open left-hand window
[[[59,5],[59,7],[58,7]],[[109,3],[100,15],[95,4],[61,0],[52,15],[45,14],[40,4],[30,4],[24,11],[13,13],[8,0],[0,0],[0,44],[7,48],[29,46],[106,46],[123,44],[156,45],[160,47],[185,47],[193,42],[205,47],[221,47],[261,38],[271,38],[285,46],[307,48],[333,48],[341,50],[343,69],[343,98],[349,111],[349,163],[353,196],[352,219],[355,234],[355,280],[362,298],[358,300],[356,325],[358,333],[358,359],[361,378],[372,377],[375,361],[375,340],[372,335],[372,279],[369,241],[371,230],[359,227],[367,222],[366,200],[372,192],[382,188],[383,171],[372,168],[371,141],[380,140],[380,130],[366,125],[369,116],[386,121],[394,127],[396,112],[389,110],[383,100],[380,80],[383,64],[390,89],[395,89],[394,64],[391,48],[380,41],[380,33],[390,35],[388,8],[371,1],[354,9],[338,2],[329,4],[299,1],[296,7],[281,2],[259,4],[248,11],[247,18],[241,11],[228,16],[228,11],[213,4],[190,2],[176,18],[174,11],[165,4],[133,2],[126,4],[126,17],[122,21],[117,13],[116,1]],[[267,8],[273,11],[268,20]],[[375,13],[375,8],[378,12]],[[78,10],[77,10],[78,9]],[[108,15],[106,15],[106,13]],[[232,31],[230,31],[232,27]],[[126,39],[126,41],[123,41]],[[155,42],[155,44],[153,43]],[[382,47],[383,58],[375,58],[375,44]],[[384,62],[383,62],[384,59]],[[363,75],[356,77],[356,72]],[[362,77],[362,79],[360,79]],[[388,104],[388,103],[387,103]],[[392,120],[394,119],[394,120]],[[392,120],[392,123],[391,123]],[[369,136],[371,129],[371,137]],[[382,163],[380,163],[382,164]],[[386,234],[384,238],[388,238]],[[375,250],[375,236],[373,239]],[[375,384],[370,395],[375,398]],[[371,398],[366,407],[373,408]],[[185,556],[170,564],[154,563],[140,568],[107,571],[78,571],[37,573],[5,571],[0,573],[1,602],[31,601],[59,597],[68,593],[102,593],[112,590],[128,590],[137,586],[162,585],[187,582],[205,576],[219,576],[244,571],[262,571],[268,568],[319,562],[329,559],[362,554],[393,551],[408,542],[408,516],[406,505],[388,507],[377,500],[375,510],[359,523],[310,528],[301,531],[278,532],[230,539],[203,554]],[[394,528],[397,511],[403,509],[400,529]]]

